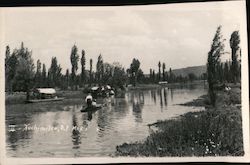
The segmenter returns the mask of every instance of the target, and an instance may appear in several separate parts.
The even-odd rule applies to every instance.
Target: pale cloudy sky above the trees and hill
[[[74,44],[86,53],[86,69],[94,69],[101,54],[104,62],[119,62],[125,68],[133,58],[141,69],[167,70],[205,65],[207,53],[219,25],[230,52],[229,39],[242,26],[244,1],[181,3],[118,7],[31,7],[5,8],[4,46],[11,50],[21,42],[48,68],[57,57],[65,73],[71,70]],[[229,54],[222,57],[229,59]],[[79,61],[80,66],[80,61]],[[80,72],[80,67],[78,69]]]

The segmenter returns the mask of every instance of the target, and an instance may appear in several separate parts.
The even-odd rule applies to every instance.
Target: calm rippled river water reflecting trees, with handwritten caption
[[[201,110],[176,104],[205,93],[202,87],[129,91],[125,98],[110,98],[107,107],[92,115],[80,112],[81,99],[8,105],[7,156],[110,156],[117,145],[144,140],[147,124]]]

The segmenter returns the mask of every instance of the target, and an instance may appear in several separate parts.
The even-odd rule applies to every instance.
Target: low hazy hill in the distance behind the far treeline
[[[172,71],[176,76],[182,75],[183,77],[186,77],[188,76],[189,73],[193,73],[197,77],[199,77],[203,73],[206,73],[207,67],[206,65],[192,66],[192,67],[181,68],[181,69],[173,69]]]

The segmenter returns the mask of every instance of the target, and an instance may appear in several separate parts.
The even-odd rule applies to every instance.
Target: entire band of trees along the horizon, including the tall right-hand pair
[[[224,53],[224,39],[221,35],[221,27],[218,27],[213,39],[211,50],[208,53],[207,73],[202,73],[200,76],[194,73],[186,75],[175,75],[172,68],[164,62],[156,63],[155,69],[149,69],[149,75],[143,73],[140,68],[141,62],[139,59],[132,59],[129,68],[124,68],[118,62],[107,63],[100,54],[96,63],[96,72],[93,71],[93,59],[90,59],[90,67],[86,68],[86,53],[82,49],[81,59],[79,59],[78,48],[73,45],[70,54],[71,72],[67,68],[66,72],[62,73],[62,68],[56,57],[52,57],[51,65],[46,69],[46,65],[39,59],[36,61],[36,68],[32,59],[32,51],[21,47],[11,51],[9,46],[6,46],[5,55],[5,90],[6,92],[23,91],[29,96],[29,91],[36,87],[54,87],[62,90],[76,90],[79,87],[85,88],[92,85],[109,84],[115,88],[124,89],[125,86],[133,84],[134,87],[143,84],[158,84],[160,81],[169,83],[187,83],[195,80],[208,80],[209,96],[211,103],[214,105],[216,93],[214,88],[222,83],[240,81],[240,59],[241,51],[239,47],[240,39],[239,32],[234,31],[231,35],[230,46],[232,49],[232,61],[221,62],[220,56]],[[81,71],[78,74],[78,62],[80,60]]]

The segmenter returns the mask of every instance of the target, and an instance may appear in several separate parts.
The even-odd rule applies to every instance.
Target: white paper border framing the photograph
[[[135,162],[250,162],[250,150],[249,150],[249,86],[248,86],[248,49],[247,49],[247,24],[246,24],[246,2],[242,2],[242,13],[239,13],[242,15],[242,26],[240,27],[241,31],[241,47],[242,47],[242,120],[243,120],[243,138],[244,138],[244,151],[245,155],[241,157],[164,157],[164,158],[133,158],[133,157],[84,157],[84,158],[7,158],[5,153],[5,99],[1,100],[1,114],[0,114],[0,125],[1,125],[1,163],[2,164],[51,164],[51,163],[57,163],[57,164],[69,164],[69,163],[135,163]],[[215,2],[205,2],[205,3],[215,3]],[[219,2],[217,2],[219,3]],[[228,5],[227,2],[220,2],[221,6]],[[192,5],[194,3],[189,3],[187,5]],[[140,9],[148,9],[155,10],[157,9],[164,9],[166,6],[170,6],[172,4],[167,5],[149,5],[149,6],[139,6]],[[178,4],[179,5],[179,4]],[[180,10],[178,8],[178,5],[173,4],[171,10]],[[182,4],[180,4],[182,5]],[[196,5],[204,5],[203,2],[196,3]],[[177,6],[177,8],[175,7]],[[29,10],[43,10],[44,7],[33,7],[29,8]],[[122,6],[122,7],[85,7],[86,10],[110,10],[111,8],[120,8],[121,10],[129,10],[133,8],[137,8],[137,6]],[[25,8],[21,8],[25,10]],[[47,10],[78,10],[81,9],[81,7],[47,7]],[[138,9],[138,8],[137,8]],[[169,8],[168,8],[169,9]],[[1,73],[1,98],[5,98],[4,94],[4,50],[5,46],[3,45],[4,40],[4,29],[1,29],[1,27],[4,26],[4,10],[14,10],[14,8],[0,8],[0,36],[3,36],[0,38],[0,54],[1,58],[0,62],[1,67],[0,73]]]

